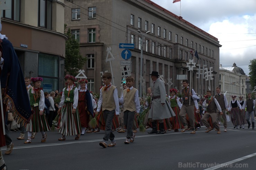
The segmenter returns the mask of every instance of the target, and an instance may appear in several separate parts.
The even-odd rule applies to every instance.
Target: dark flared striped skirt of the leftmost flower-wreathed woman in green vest
[[[50,127],[47,122],[47,119],[45,115],[39,115],[39,107],[31,106],[31,109],[35,111],[35,113],[32,115],[29,124],[27,124],[27,131],[30,132],[41,132],[41,131],[49,131]]]

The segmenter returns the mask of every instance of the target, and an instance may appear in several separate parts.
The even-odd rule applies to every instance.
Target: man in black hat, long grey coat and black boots
[[[151,74],[153,80],[151,105],[148,118],[152,123],[152,131],[149,134],[164,134],[164,119],[175,116],[171,106],[166,102],[166,91],[164,82],[158,77],[158,72]],[[159,132],[157,132],[156,120],[159,122]]]

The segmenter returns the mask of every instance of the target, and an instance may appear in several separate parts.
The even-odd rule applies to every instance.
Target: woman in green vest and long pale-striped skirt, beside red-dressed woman
[[[66,75],[65,80],[67,86],[63,89],[60,108],[58,114],[61,114],[61,123],[59,133],[62,137],[58,140],[66,140],[65,136],[75,136],[75,140],[80,138],[81,124],[77,108],[78,90],[75,86],[76,78],[71,75]]]

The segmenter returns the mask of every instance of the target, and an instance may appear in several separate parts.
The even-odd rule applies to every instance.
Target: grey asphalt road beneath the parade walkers
[[[176,170],[176,169],[256,169],[256,129],[233,129],[221,134],[201,127],[196,134],[167,131],[164,135],[137,132],[134,143],[124,144],[125,133],[114,132],[117,145],[102,148],[104,131],[85,134],[79,140],[49,131],[41,143],[38,133],[31,144],[17,140],[19,132],[10,131],[14,148],[4,155],[9,170]],[[27,136],[27,134],[26,134]],[[110,141],[109,141],[110,142]],[[2,147],[5,152],[6,148]],[[216,166],[220,167],[216,167]]]

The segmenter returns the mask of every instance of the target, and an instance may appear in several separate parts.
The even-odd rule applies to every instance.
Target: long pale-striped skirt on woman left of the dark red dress
[[[78,110],[72,114],[73,103],[64,103],[61,109],[61,122],[59,133],[66,136],[81,134],[81,123]]]

